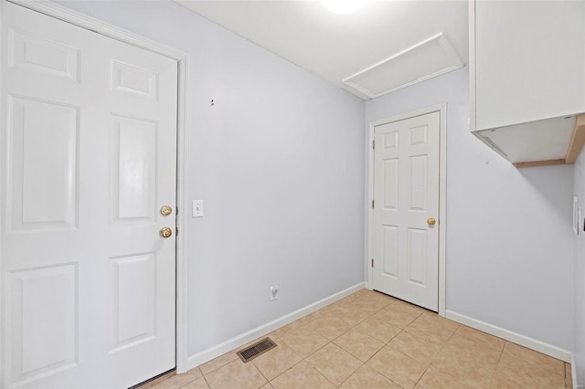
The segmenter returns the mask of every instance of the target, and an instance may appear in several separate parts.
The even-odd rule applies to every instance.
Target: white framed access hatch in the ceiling
[[[370,99],[439,76],[464,64],[439,33],[343,80]]]

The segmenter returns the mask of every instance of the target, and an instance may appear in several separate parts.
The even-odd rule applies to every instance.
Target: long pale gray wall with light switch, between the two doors
[[[172,2],[60,4],[190,56],[189,355],[364,280],[362,100]]]

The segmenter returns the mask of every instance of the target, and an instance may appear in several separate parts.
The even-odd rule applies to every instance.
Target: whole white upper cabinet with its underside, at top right
[[[512,163],[564,163],[585,112],[585,1],[472,0],[470,81],[481,140]]]

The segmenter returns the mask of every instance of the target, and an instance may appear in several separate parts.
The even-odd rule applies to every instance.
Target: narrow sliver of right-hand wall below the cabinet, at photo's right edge
[[[579,204],[585,215],[585,152],[575,163],[573,194],[579,196]],[[577,383],[585,383],[585,232],[580,220],[579,237],[575,237],[575,365]]]

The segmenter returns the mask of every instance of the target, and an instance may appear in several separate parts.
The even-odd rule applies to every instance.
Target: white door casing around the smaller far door
[[[374,149],[372,147],[374,142],[374,129],[380,125],[388,124],[395,121],[404,121],[406,119],[414,118],[416,116],[426,115],[432,112],[439,112],[439,315],[445,317],[446,315],[446,231],[447,231],[447,103],[433,105],[431,107],[422,108],[420,110],[412,110],[410,112],[401,113],[389,118],[380,119],[378,121],[369,122],[369,130],[367,134],[367,163],[366,163],[366,274],[367,284],[366,288],[373,290],[373,272],[370,261],[374,258],[374,209],[372,208],[372,200],[374,199]]]

